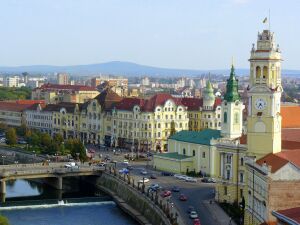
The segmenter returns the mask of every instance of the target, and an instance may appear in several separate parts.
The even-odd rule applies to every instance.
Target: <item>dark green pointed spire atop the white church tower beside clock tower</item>
[[[227,102],[235,102],[240,100],[240,94],[238,92],[238,79],[235,77],[234,66],[231,66],[230,77],[226,84],[226,93],[224,95],[224,100]]]

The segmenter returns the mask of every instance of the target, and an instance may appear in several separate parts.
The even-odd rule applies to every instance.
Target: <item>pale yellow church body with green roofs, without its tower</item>
[[[194,171],[216,177],[219,130],[180,131],[168,139],[168,152],[154,156],[154,167],[173,173]]]

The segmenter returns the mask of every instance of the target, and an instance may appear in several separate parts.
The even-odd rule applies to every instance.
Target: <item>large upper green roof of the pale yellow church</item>
[[[183,141],[201,145],[210,145],[212,139],[221,137],[221,131],[206,129],[203,131],[183,130],[169,137],[171,140]]]

